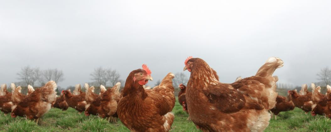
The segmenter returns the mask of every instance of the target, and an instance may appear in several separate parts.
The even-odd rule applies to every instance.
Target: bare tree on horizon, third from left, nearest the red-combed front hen
[[[106,86],[106,84],[110,83],[111,86],[115,85],[116,82],[119,81],[120,75],[116,70],[112,69],[104,69],[102,67],[94,69],[94,72],[90,74],[92,76],[92,80],[100,85]]]

